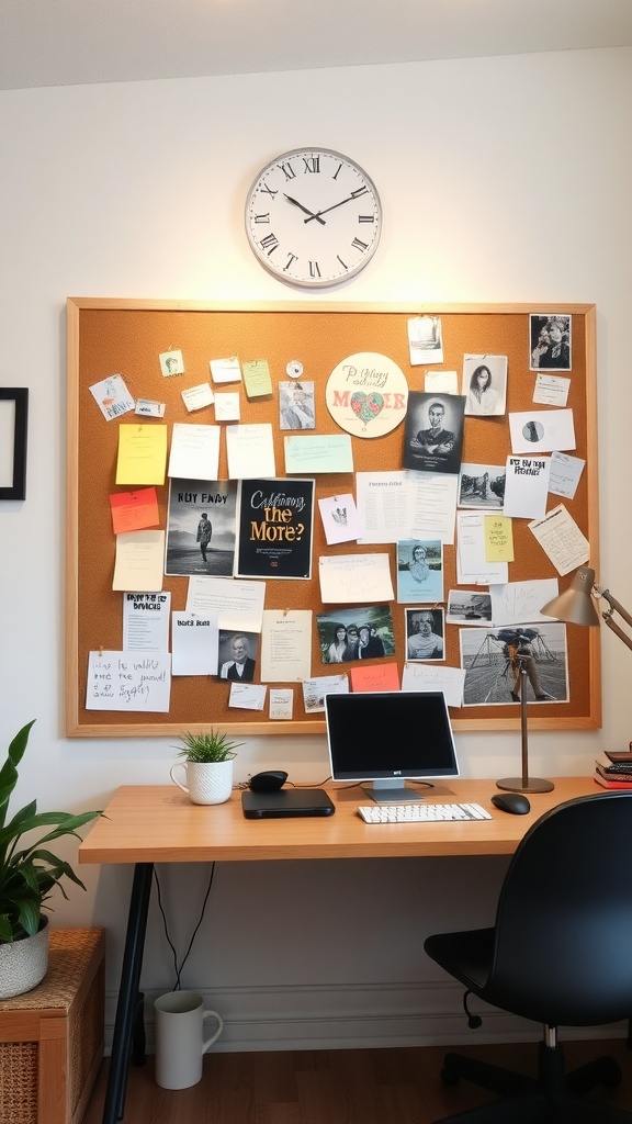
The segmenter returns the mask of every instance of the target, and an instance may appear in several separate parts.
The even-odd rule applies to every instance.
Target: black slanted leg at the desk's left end
[[[103,1106],[103,1124],[117,1124],[117,1121],[123,1120],[125,1111],[127,1068],[129,1064],[134,1014],[138,1001],[138,985],[143,967],[143,951],[145,948],[145,931],[147,927],[153,871],[154,865],[151,862],[137,862],[134,868],[134,881],[132,883],[129,915],[127,918],[127,936],[125,937],[120,988],[114,1024],[110,1070]]]

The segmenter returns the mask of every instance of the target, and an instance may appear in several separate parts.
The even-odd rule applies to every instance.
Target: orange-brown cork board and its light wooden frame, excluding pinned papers
[[[183,729],[202,731],[209,726],[224,729],[235,735],[259,736],[270,734],[279,736],[281,734],[319,734],[325,731],[324,716],[295,717],[291,722],[270,722],[261,714],[246,711],[227,711],[225,697],[227,685],[222,681],[213,683],[210,688],[209,701],[205,703],[205,716],[193,713],[195,706],[191,701],[178,700],[178,692],[183,690],[182,680],[174,680],[172,687],[172,707],[166,715],[152,715],[147,720],[146,715],[128,714],[116,711],[87,711],[83,707],[85,679],[87,679],[87,652],[103,647],[118,649],[120,640],[116,642],[120,634],[120,595],[111,592],[111,563],[114,562],[114,535],[111,535],[111,523],[109,511],[109,495],[116,490],[114,483],[115,455],[112,454],[112,442],[116,439],[118,423],[106,423],[100,416],[99,409],[89,392],[89,387],[100,381],[109,374],[121,373],[127,381],[128,388],[134,397],[161,397],[164,400],[165,387],[159,386],[160,371],[157,369],[157,352],[172,347],[182,347],[190,355],[198,347],[197,336],[204,336],[202,352],[205,357],[204,370],[208,371],[208,359],[222,357],[224,355],[238,354],[242,361],[268,357],[272,371],[274,391],[277,383],[285,381],[286,362],[291,359],[301,359],[306,363],[305,378],[316,382],[316,396],[323,396],[318,405],[317,430],[322,433],[335,432],[336,427],[328,417],[324,405],[324,386],[329,370],[345,355],[354,351],[380,351],[385,352],[403,368],[410,389],[423,390],[422,372],[424,368],[412,368],[407,361],[407,345],[405,343],[405,321],[410,316],[430,314],[442,317],[444,345],[446,348],[444,368],[449,370],[461,370],[463,351],[480,354],[507,354],[514,347],[515,338],[524,335],[524,356],[512,363],[509,360],[509,386],[518,387],[524,383],[529,387],[529,396],[532,393],[534,373],[530,379],[521,381],[517,379],[517,368],[522,366],[522,373],[529,375],[529,315],[545,312],[562,312],[572,315],[572,362],[574,369],[571,378],[571,399],[577,433],[577,450],[575,455],[586,461],[586,469],[580,481],[578,493],[574,501],[565,501],[571,515],[578,522],[581,531],[590,542],[590,564],[598,574],[598,492],[597,492],[597,395],[596,395],[596,361],[595,361],[595,306],[558,302],[554,306],[533,305],[358,305],[358,303],[324,303],[324,302],[277,302],[277,303],[213,303],[207,305],[199,301],[168,301],[168,300],[124,300],[109,298],[69,298],[67,300],[67,487],[66,487],[66,733],[69,737],[155,737],[165,735],[178,735]],[[231,326],[233,346],[228,347],[224,342],[226,338],[223,332],[228,324]],[[247,336],[252,325],[255,325],[261,343],[254,344],[252,333]],[[240,335],[240,327],[244,328],[244,338]],[[370,333],[367,329],[371,328]],[[219,330],[222,328],[222,330]],[[324,330],[326,328],[326,330]],[[397,330],[397,351],[390,344],[389,332]],[[154,330],[155,329],[155,330]],[[214,329],[214,330],[210,330]],[[215,330],[217,329],[217,330]],[[269,329],[269,330],[267,330]],[[282,330],[288,332],[285,344],[279,352],[277,347]],[[358,330],[356,330],[358,329]],[[453,329],[453,332],[451,330]],[[255,332],[255,338],[256,338]],[[383,332],[383,335],[381,334]],[[459,346],[453,354],[450,354],[449,341],[451,335],[459,337]],[[517,335],[516,335],[517,334]],[[326,343],[329,338],[341,336],[344,341],[343,351],[335,351],[335,361],[332,362],[327,355]],[[196,337],[193,339],[193,336]],[[368,337],[370,336],[370,338]],[[190,338],[189,338],[190,337]],[[217,344],[209,342],[217,337]],[[346,341],[355,341],[354,345]],[[358,339],[362,343],[359,345]],[[160,343],[156,343],[160,341]],[[365,341],[365,343],[364,343]],[[485,342],[485,346],[484,343]],[[512,343],[512,341],[514,341]],[[490,342],[494,346],[490,346]],[[242,344],[242,345],[241,345]],[[506,346],[505,346],[506,345]],[[210,348],[210,350],[209,350]],[[272,354],[277,350],[276,354]],[[280,361],[280,355],[283,362]],[[198,355],[199,359],[199,355]],[[146,369],[151,371],[147,375]],[[200,374],[201,368],[198,363],[197,375],[192,380],[165,380],[171,384],[179,382],[171,393],[180,397],[180,389],[189,384],[196,384],[206,378]],[[157,379],[155,374],[157,372]],[[151,380],[154,380],[151,382]],[[151,392],[150,392],[151,386]],[[159,393],[160,390],[160,393]],[[523,397],[512,401],[509,398],[508,409],[526,408],[526,402],[531,397],[524,398],[526,391],[521,391]],[[245,409],[242,411],[242,420],[272,420],[274,423],[276,442],[279,442],[278,450],[281,448],[282,435],[278,432],[278,402],[277,395],[267,404],[259,404],[256,408],[249,404],[242,391]],[[175,399],[174,399],[175,402]],[[129,420],[133,415],[124,415],[123,420]],[[187,415],[180,399],[179,413],[173,408],[168,409],[165,420],[171,424],[175,420],[213,420],[208,416]],[[496,419],[494,419],[496,420]],[[503,420],[503,419],[498,419]],[[489,423],[488,423],[489,424]],[[94,429],[101,426],[103,428]],[[112,427],[112,428],[106,428]],[[85,433],[84,433],[85,430]],[[506,430],[506,433],[505,433]],[[94,432],[98,439],[94,443]],[[500,429],[499,429],[500,432]],[[497,452],[498,459],[504,463],[505,455],[511,452],[507,447],[508,426],[506,417],[504,419],[504,438],[499,443]],[[88,434],[88,444],[87,444]],[[397,436],[399,434],[399,436]],[[467,439],[467,438],[466,438]],[[354,456],[356,463],[355,471],[368,468],[398,469],[397,455],[394,451],[400,446],[401,427],[394,435],[387,438],[376,438],[373,441],[354,441]],[[376,455],[376,445],[380,442],[390,442],[383,445],[385,457]],[[100,464],[101,444],[110,445],[103,454],[105,464]],[[399,444],[398,444],[399,443]],[[363,447],[360,447],[363,446]],[[368,447],[370,450],[370,459]],[[390,457],[390,459],[389,459]],[[463,460],[471,462],[473,457],[468,454],[467,446],[463,450]],[[486,456],[489,462],[489,455]],[[476,463],[476,461],[475,461]],[[277,468],[282,466],[283,459],[281,452],[277,454]],[[220,477],[225,475],[220,464]],[[282,471],[278,471],[283,475]],[[353,490],[352,477],[325,477],[317,479],[317,495],[335,495],[337,491]],[[335,482],[334,482],[335,481]],[[90,493],[90,511],[85,513],[84,492]],[[161,489],[159,489],[160,491]],[[164,491],[166,491],[166,486]],[[554,497],[552,497],[554,499]],[[549,505],[553,506],[553,505]],[[162,505],[164,514],[165,505]],[[94,520],[92,523],[92,520]],[[525,535],[531,533],[525,529],[526,520],[517,520],[524,524]],[[323,545],[319,544],[317,525],[319,518],[316,513],[315,518],[315,558],[317,553],[323,553]],[[107,527],[109,525],[109,535]],[[103,562],[100,555],[96,556],[96,544],[103,547],[107,555]],[[324,542],[324,540],[323,540]],[[87,549],[89,544],[90,549]],[[518,544],[520,545],[520,544]],[[341,547],[326,547],[328,553],[345,553],[351,544],[342,544]],[[395,547],[362,547],[368,550],[390,550],[394,554]],[[446,553],[453,550],[446,547]],[[529,554],[529,558],[527,558]],[[509,571],[511,580],[524,580],[526,577],[543,578],[556,577],[551,563],[545,558],[538,545],[533,547],[525,540],[524,562],[516,555],[516,563]],[[106,570],[103,570],[106,565]],[[315,568],[316,569],[316,568]],[[446,564],[446,570],[449,566]],[[109,574],[109,588],[105,573]],[[566,588],[570,577],[560,579],[560,590]],[[184,578],[166,579],[168,583],[184,582]],[[453,584],[454,582],[452,582]],[[281,598],[280,591],[274,591],[274,597],[270,597],[271,587],[283,587]],[[296,587],[288,590],[288,587]],[[445,591],[450,588],[446,577]],[[267,595],[267,607],[279,608],[287,605],[291,608],[314,608],[320,607],[318,600],[317,581],[306,582],[268,582],[269,593]],[[270,604],[270,601],[273,604]],[[172,604],[172,608],[182,608],[183,597],[178,604]],[[394,605],[395,614],[403,615],[404,606]],[[446,632],[451,627],[448,626]],[[594,729],[601,726],[601,645],[599,629],[579,629],[569,626],[571,633],[568,635],[569,646],[569,685],[570,703],[551,704],[545,707],[533,707],[530,714],[530,728],[532,729]],[[88,642],[85,634],[88,632]],[[314,628],[314,632],[316,629]],[[316,644],[314,651],[316,652]],[[396,651],[397,659],[397,651]],[[401,665],[401,659],[397,659]],[[458,660],[453,659],[448,649],[448,664],[454,665]],[[316,659],[313,659],[313,674],[325,674],[327,668],[322,667]],[[222,695],[219,695],[222,692]],[[300,687],[295,689],[295,716],[303,709],[303,697]],[[208,720],[206,713],[208,711]],[[502,731],[520,728],[520,717],[515,706],[488,706],[468,707],[467,709],[453,709],[451,713],[452,724],[455,731]]]

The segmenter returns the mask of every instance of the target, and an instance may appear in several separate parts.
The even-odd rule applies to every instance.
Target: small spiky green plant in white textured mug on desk
[[[231,742],[227,734],[211,729],[207,734],[182,734],[181,746],[175,746],[184,761],[171,768],[171,779],[192,804],[224,804],[233,791],[233,760],[243,742]],[[186,782],[175,777],[177,769],[184,769]]]

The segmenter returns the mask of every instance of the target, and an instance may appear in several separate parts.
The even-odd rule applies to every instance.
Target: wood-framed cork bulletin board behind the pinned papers
[[[238,356],[242,363],[265,359],[272,395],[249,401],[238,384],[241,422],[270,422],[274,433],[277,474],[285,474],[283,436],[279,428],[279,382],[287,381],[286,366],[299,360],[304,379],[315,383],[316,433],[335,434],[325,405],[325,386],[332,370],[358,352],[389,356],[404,372],[409,390],[424,389],[426,366],[409,362],[407,320],[430,314],[441,317],[444,362],[437,369],[462,371],[463,354],[506,355],[508,361],[507,413],[532,408],[535,373],[530,371],[530,314],[563,312],[572,316],[572,370],[568,408],[572,409],[577,447],[572,455],[586,461],[579,487],[565,506],[590,543],[590,564],[598,572],[597,446],[595,388],[595,309],[592,305],[506,306],[391,306],[323,302],[208,306],[195,302],[135,301],[72,298],[67,301],[67,519],[66,519],[66,732],[80,737],[129,737],[180,734],[211,725],[232,734],[323,734],[324,716],[306,715],[300,683],[294,686],[294,717],[271,722],[263,711],[228,707],[229,683],[209,676],[173,677],[168,714],[87,710],[85,685],[91,651],[123,647],[123,593],[112,591],[116,541],[109,497],[128,487],[117,486],[118,419],[106,422],[90,386],[115,373],[121,374],[134,398],[164,401],[162,424],[215,424],[213,407],[189,414],[181,391],[208,379],[210,359]],[[159,354],[179,348],[186,373],[163,379]],[[224,388],[219,388],[224,389]],[[237,386],[226,389],[235,390]],[[538,407],[539,409],[541,407]],[[121,423],[134,414],[121,416]],[[152,424],[143,418],[143,424]],[[358,471],[401,469],[404,425],[376,438],[352,437],[353,468]],[[504,464],[512,453],[507,414],[503,417],[466,417],[464,463]],[[306,473],[309,475],[309,473]],[[226,479],[225,441],[220,442],[219,479]],[[316,629],[323,606],[317,559],[329,554],[387,552],[396,588],[396,546],[354,542],[327,546],[317,500],[355,492],[354,473],[316,474],[313,536],[313,578],[268,580],[267,609],[312,609],[314,613],[312,674],[325,676],[350,665],[325,665]],[[161,527],[166,526],[169,481],[157,488]],[[549,509],[557,506],[551,496]],[[527,519],[514,519],[515,561],[509,581],[557,577],[553,564],[527,528]],[[571,574],[560,578],[560,591]],[[165,577],[172,610],[182,610],[188,579]],[[457,587],[455,547],[444,549],[444,590]],[[464,587],[467,588],[467,587]],[[475,588],[475,587],[470,587]],[[361,604],[361,601],[359,602]],[[408,606],[409,608],[409,606]],[[401,674],[406,653],[405,606],[391,605],[395,655]],[[458,667],[459,626],[445,625],[445,663]],[[567,628],[569,701],[531,708],[534,729],[580,729],[601,725],[599,629]],[[256,676],[255,676],[256,679]],[[454,729],[513,729],[520,725],[518,708],[508,704],[452,709]]]

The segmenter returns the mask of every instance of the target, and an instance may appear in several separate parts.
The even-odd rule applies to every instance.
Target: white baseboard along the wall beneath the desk
[[[145,992],[147,1052],[154,1048],[154,999]],[[462,1008],[463,988],[445,984],[361,984],[313,987],[196,989],[205,1007],[224,1019],[218,1053],[263,1050],[351,1050],[387,1046],[476,1045],[538,1041],[541,1027],[471,998],[482,1026],[470,1031]],[[106,1043],[111,1044],[116,994],[106,998]],[[210,1024],[209,1024],[210,1025]],[[626,1023],[569,1027],[562,1037],[623,1037]]]

